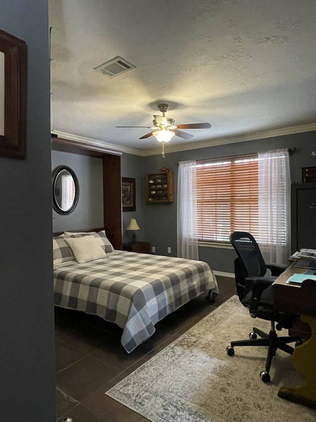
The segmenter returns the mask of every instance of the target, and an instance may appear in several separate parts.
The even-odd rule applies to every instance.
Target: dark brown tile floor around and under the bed
[[[236,294],[235,279],[217,276],[217,281],[220,293],[214,302],[202,294],[182,306],[156,324],[154,335],[130,354],[120,344],[122,330],[116,325],[55,308],[56,421],[148,421],[105,392]]]

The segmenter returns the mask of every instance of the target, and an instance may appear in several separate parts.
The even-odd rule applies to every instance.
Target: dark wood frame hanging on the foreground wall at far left
[[[0,157],[26,157],[27,46],[19,38],[0,30],[4,53],[4,135],[0,135]]]

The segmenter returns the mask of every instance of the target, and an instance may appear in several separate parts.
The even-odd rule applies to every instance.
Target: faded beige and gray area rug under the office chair
[[[152,422],[316,421],[315,410],[277,396],[280,386],[302,382],[290,355],[277,351],[269,383],[259,376],[266,347],[227,355],[230,341],[249,338],[253,325],[270,329],[233,296],[106,394]]]

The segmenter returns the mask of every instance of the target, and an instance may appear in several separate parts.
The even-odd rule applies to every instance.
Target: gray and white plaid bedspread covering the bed
[[[153,335],[166,315],[203,291],[218,291],[203,261],[115,251],[85,264],[61,265],[54,271],[55,305],[117,324],[128,353]]]

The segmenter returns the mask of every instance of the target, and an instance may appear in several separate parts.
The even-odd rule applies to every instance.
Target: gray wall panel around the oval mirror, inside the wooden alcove
[[[103,227],[102,158],[67,152],[51,152],[51,168],[65,165],[74,170],[79,182],[79,200],[68,215],[53,209],[53,232]]]

